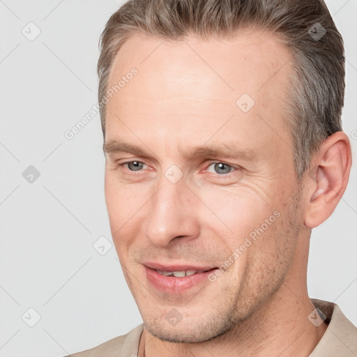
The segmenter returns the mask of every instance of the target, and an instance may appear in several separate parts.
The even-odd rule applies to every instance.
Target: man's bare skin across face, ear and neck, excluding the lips
[[[331,135],[298,181],[284,107],[291,54],[271,33],[182,42],[135,35],[109,86],[132,67],[137,75],[107,103],[105,198],[145,324],[141,356],[308,356],[327,327],[307,319],[310,232],[346,188],[347,136]],[[255,100],[248,112],[236,105],[243,93]],[[119,142],[142,153],[117,151]],[[190,151],[227,144],[240,153]],[[143,163],[138,171],[133,161]],[[183,174],[176,183],[165,176],[172,165]],[[148,260],[221,266],[274,212],[279,218],[214,282],[167,294],[146,279]],[[173,308],[176,326],[165,319]]]

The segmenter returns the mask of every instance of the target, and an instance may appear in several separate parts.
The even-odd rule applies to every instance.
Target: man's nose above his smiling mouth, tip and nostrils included
[[[146,216],[144,234],[151,243],[165,247],[175,238],[194,239],[199,236],[197,197],[185,187],[181,179],[177,183],[165,182],[151,197]]]

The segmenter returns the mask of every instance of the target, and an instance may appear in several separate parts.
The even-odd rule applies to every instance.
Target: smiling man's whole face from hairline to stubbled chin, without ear
[[[119,51],[108,89],[137,74],[107,104],[105,197],[126,280],[162,340],[225,333],[298,278],[290,58],[255,31],[134,36]]]

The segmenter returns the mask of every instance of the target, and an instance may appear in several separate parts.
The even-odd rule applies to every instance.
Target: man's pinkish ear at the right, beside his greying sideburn
[[[335,132],[314,155],[307,175],[307,208],[304,224],[310,229],[321,225],[335,210],[349,181],[351,144],[344,132]]]

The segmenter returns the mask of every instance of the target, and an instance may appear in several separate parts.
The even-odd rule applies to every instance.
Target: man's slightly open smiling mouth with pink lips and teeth
[[[162,265],[145,263],[146,279],[154,289],[167,294],[182,294],[188,289],[208,284],[208,275],[218,267],[192,265]]]

